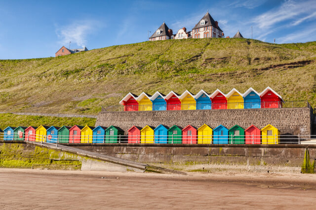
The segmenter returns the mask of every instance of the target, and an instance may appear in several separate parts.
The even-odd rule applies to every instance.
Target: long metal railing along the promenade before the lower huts
[[[16,137],[16,138],[15,138]],[[131,144],[316,144],[316,135],[78,135],[51,136],[39,134],[1,133],[4,141],[34,141],[53,144],[60,143],[131,143]]]

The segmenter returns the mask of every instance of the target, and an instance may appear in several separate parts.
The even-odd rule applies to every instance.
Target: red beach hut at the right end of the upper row
[[[272,88],[267,87],[260,93],[261,108],[282,108],[282,97]]]

